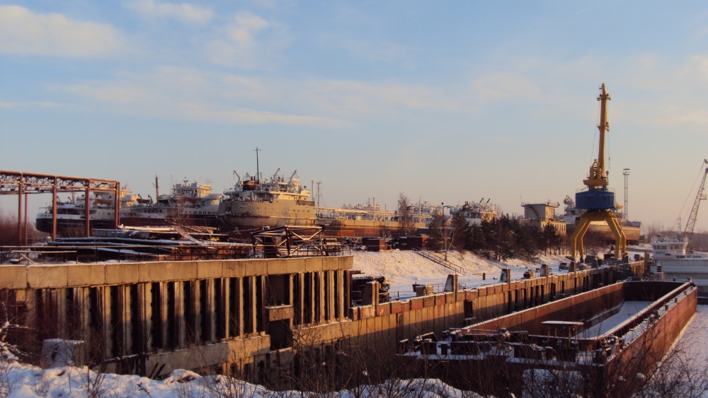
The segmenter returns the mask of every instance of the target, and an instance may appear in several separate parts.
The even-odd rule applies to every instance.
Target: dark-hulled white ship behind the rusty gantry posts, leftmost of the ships
[[[122,192],[122,199],[131,197],[130,192]],[[131,201],[121,200],[121,206],[130,206]],[[52,206],[40,208],[35,220],[37,230],[52,233]],[[121,213],[124,210],[121,209]],[[65,236],[84,235],[86,226],[86,197],[69,198],[62,202],[57,198],[57,233]],[[115,227],[115,198],[110,192],[96,192],[89,194],[89,227],[114,228]]]

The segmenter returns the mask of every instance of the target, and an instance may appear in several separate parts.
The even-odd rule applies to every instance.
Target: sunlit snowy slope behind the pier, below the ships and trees
[[[443,254],[438,255],[443,256]],[[456,251],[447,253],[447,261],[462,268],[458,281],[464,283],[468,288],[498,283],[503,268],[511,269],[512,279],[521,279],[524,271],[539,267],[538,264],[525,262],[521,259],[497,262],[469,252]],[[558,265],[561,262],[569,262],[566,257],[561,255],[542,255],[540,261],[549,264],[555,273],[559,273]],[[355,252],[352,268],[362,271],[367,276],[386,276],[386,279],[392,283],[391,290],[399,291],[401,295],[412,294],[413,283],[445,283],[447,275],[454,273],[454,271],[409,250]],[[482,280],[483,273],[486,274],[486,280]]]

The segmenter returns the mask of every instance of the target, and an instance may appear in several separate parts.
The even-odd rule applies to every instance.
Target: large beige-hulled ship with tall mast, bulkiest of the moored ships
[[[315,206],[309,200],[310,191],[300,184],[297,170],[289,178],[279,175],[263,179],[259,172],[241,176],[224,192],[219,203],[217,219],[222,224],[244,232],[264,227],[314,226]]]

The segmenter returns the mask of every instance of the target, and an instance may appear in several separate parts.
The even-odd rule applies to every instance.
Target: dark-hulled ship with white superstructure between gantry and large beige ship
[[[124,196],[120,222],[133,227],[219,226],[217,211],[222,196],[212,194],[211,185],[184,180],[172,187],[171,194],[157,192],[155,196],[156,201],[135,195]]]

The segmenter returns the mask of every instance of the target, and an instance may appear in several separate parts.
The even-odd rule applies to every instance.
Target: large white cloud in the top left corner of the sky
[[[0,53],[105,57],[125,49],[110,25],[0,6]]]

